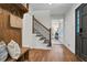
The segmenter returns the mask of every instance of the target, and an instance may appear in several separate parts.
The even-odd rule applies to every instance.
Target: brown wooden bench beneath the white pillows
[[[21,53],[21,55],[19,56],[18,59],[13,59],[9,56],[6,62],[29,62],[29,48],[22,47],[21,52],[22,53]]]

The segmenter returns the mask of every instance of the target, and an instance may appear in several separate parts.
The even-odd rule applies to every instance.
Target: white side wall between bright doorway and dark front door
[[[75,53],[75,9],[79,4],[74,4],[65,14],[64,19],[64,44]]]

